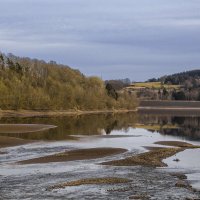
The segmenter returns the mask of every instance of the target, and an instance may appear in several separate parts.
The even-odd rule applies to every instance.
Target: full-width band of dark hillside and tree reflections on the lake
[[[68,140],[74,139],[72,135],[108,135],[118,130],[126,134],[129,128],[141,128],[162,135],[200,140],[200,117],[197,116],[136,113],[93,114],[66,117],[2,118],[0,123],[37,123],[57,126],[56,129],[36,133],[1,134],[33,140]]]

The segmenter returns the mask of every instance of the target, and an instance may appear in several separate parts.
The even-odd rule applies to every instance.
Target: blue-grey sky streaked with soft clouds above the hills
[[[0,0],[0,51],[103,79],[200,69],[200,1]]]

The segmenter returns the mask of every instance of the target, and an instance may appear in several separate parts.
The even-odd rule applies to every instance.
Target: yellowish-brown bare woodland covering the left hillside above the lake
[[[133,94],[55,61],[0,53],[0,109],[134,109]]]

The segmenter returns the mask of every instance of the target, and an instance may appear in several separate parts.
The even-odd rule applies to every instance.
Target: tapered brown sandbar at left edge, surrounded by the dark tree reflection
[[[45,124],[0,124],[0,133],[32,133],[56,128]]]

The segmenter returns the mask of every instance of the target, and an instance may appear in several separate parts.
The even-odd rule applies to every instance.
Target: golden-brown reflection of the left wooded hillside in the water
[[[23,139],[36,140],[62,140],[71,139],[70,135],[102,135],[110,134],[113,130],[127,132],[129,127],[134,127],[137,115],[132,114],[101,114],[101,115],[79,115],[51,118],[2,118],[0,123],[17,124],[52,124],[57,126],[48,131],[29,134],[1,134],[19,137]]]

